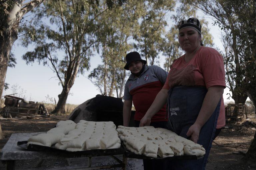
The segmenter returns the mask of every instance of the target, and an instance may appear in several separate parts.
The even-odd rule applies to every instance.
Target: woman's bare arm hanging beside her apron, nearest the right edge
[[[191,136],[191,140],[193,142],[197,143],[202,126],[207,122],[216,109],[223,92],[223,86],[211,86],[208,88],[196,122],[188,129],[187,132],[187,136]]]

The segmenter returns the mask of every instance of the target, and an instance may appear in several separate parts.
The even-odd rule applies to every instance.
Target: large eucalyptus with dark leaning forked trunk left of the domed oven
[[[92,49],[100,42],[100,16],[122,1],[48,0],[35,12],[36,20],[22,28],[23,45],[33,51],[23,55],[27,64],[48,65],[62,87],[53,113],[65,113],[65,103],[78,73],[90,67]],[[49,23],[44,21],[50,21]],[[63,52],[63,56],[58,56]]]

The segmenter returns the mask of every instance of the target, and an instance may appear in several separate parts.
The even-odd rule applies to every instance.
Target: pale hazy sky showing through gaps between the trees
[[[208,17],[200,13],[198,19],[206,19],[209,24],[210,33],[213,35],[213,42],[219,49],[223,49],[221,39],[220,39],[220,29],[218,26],[212,26],[213,21]],[[23,47],[19,45],[19,39],[14,42],[12,47],[12,52],[16,57],[17,64],[15,68],[8,68],[5,82],[9,83],[9,89],[3,92],[4,95],[10,95],[15,92],[18,97],[22,97],[27,101],[35,102],[46,102],[53,103],[55,98],[58,102],[58,94],[61,93],[62,87],[58,84],[59,81],[55,73],[48,67],[39,65],[37,62],[27,65],[24,60],[22,60],[22,55],[27,51],[31,51],[33,46]],[[68,96],[67,103],[69,104],[81,104],[88,99],[95,97],[97,94],[100,94],[96,86],[94,86],[91,81],[87,78],[94,68],[98,64],[101,64],[101,58],[94,52],[94,56],[90,60],[90,70],[85,71],[84,75],[79,74],[75,79],[75,83],[70,90],[70,95]],[[62,55],[62,54],[57,54]],[[160,66],[163,68],[164,56],[159,57]],[[16,90],[14,90],[16,87]],[[232,101],[230,98],[227,99],[229,89],[224,90],[224,102],[228,103]],[[114,96],[116,97],[116,96]]]

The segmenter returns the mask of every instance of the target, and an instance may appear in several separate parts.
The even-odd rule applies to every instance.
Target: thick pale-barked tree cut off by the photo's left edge
[[[24,15],[44,0],[5,0],[0,2],[0,96],[3,94],[5,76],[13,43],[18,38],[19,24]],[[9,65],[10,66],[10,65]]]

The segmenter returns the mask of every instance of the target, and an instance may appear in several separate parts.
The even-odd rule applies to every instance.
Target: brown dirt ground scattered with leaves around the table
[[[1,119],[1,126],[5,139],[0,140],[0,150],[8,141],[10,135],[14,132],[43,132],[53,128],[60,120],[66,120],[67,116],[51,116],[56,119],[25,119],[25,120],[3,120]],[[59,120],[57,120],[59,119]],[[256,121],[252,119],[252,121]],[[256,125],[256,124],[254,124]],[[255,133],[255,126],[252,124],[232,123],[227,124],[226,128],[222,129],[219,136],[214,140],[208,163],[207,170],[256,170],[256,161],[254,163],[245,163],[242,161],[244,153],[248,150],[250,141],[253,139]],[[225,146],[225,147],[223,147]],[[228,146],[228,147],[227,147]],[[74,158],[73,158],[74,159]],[[17,161],[16,169],[35,169],[45,170],[59,167],[66,167],[68,163],[64,159],[45,160],[41,167],[34,168],[37,160],[23,160]],[[73,161],[73,162],[72,162]],[[84,166],[84,160],[70,159],[72,165]],[[96,164],[107,164],[111,160],[102,158]],[[5,164],[0,162],[0,169],[4,169]],[[128,169],[143,169],[142,161],[136,159],[128,160]]]

